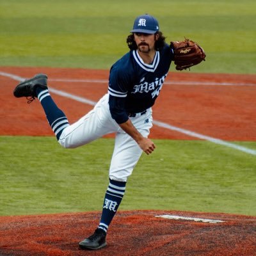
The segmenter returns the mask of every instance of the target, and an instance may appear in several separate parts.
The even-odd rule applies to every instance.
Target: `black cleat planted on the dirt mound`
[[[99,250],[107,245],[106,236],[107,234],[103,229],[97,228],[92,236],[79,243],[79,247],[86,250]]]

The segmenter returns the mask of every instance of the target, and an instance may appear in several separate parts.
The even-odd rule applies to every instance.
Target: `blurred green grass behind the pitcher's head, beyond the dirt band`
[[[253,0],[1,0],[0,65],[109,68],[142,13],[157,17],[166,42],[186,36],[204,47],[193,72],[255,74]]]

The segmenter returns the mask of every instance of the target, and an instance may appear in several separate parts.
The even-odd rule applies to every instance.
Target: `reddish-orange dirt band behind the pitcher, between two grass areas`
[[[1,67],[0,72],[20,77],[45,72],[52,88],[94,101],[108,91],[108,70]],[[0,135],[52,136],[40,104],[29,106],[24,98],[14,99],[15,79],[0,74],[0,84]],[[255,88],[256,75],[170,72],[154,106],[154,119],[221,140],[256,141]],[[92,109],[52,95],[70,123]],[[191,140],[191,136],[156,125],[150,136]]]

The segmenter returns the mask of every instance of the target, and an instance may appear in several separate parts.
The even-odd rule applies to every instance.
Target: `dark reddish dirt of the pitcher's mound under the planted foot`
[[[221,220],[206,223],[169,220],[159,215]],[[99,212],[0,217],[1,256],[253,256],[256,217],[230,214],[125,211],[118,212],[108,234],[108,246],[84,251],[78,242],[90,235]]]

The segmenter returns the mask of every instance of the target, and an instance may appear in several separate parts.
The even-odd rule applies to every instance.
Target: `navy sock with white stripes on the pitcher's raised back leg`
[[[47,89],[42,89],[38,86],[36,88],[36,96],[44,108],[46,118],[49,125],[51,125],[52,131],[56,135],[57,140],[59,140],[63,129],[69,125],[66,115],[52,100]]]

